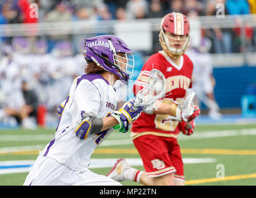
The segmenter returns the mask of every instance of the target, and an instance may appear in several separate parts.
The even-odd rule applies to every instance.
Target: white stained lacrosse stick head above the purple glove
[[[165,76],[158,69],[152,69],[147,85],[135,98],[134,106],[152,105],[158,98],[165,96]]]

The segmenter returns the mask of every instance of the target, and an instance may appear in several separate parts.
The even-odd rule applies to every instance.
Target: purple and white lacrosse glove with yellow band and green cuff
[[[134,107],[135,98],[130,99],[119,111],[114,111],[111,114],[114,118],[119,121],[119,124],[114,126],[114,129],[120,132],[127,132],[129,130],[130,124],[139,118],[140,113],[144,109],[144,106]]]

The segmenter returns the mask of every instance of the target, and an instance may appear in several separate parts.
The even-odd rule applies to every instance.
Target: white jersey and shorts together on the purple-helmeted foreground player
[[[117,106],[114,88],[99,74],[81,75],[73,81],[68,98],[62,106],[55,139],[40,152],[24,185],[118,185],[116,181],[86,168],[94,149],[113,129],[80,139],[74,128],[81,121],[83,113],[94,118],[105,118],[114,112]],[[48,167],[47,171],[45,166]],[[64,179],[63,175],[62,181],[58,178],[60,174],[67,174],[68,179]]]

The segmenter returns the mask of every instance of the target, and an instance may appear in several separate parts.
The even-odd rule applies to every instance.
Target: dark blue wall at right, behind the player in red
[[[256,95],[256,66],[216,67],[213,75],[216,79],[214,93],[220,108],[240,108],[243,95]]]

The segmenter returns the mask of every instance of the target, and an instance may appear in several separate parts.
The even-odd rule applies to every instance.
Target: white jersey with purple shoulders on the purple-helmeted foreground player
[[[41,155],[57,160],[73,170],[83,170],[89,165],[94,149],[112,132],[112,128],[86,139],[76,137],[75,128],[81,115],[105,118],[116,110],[117,94],[111,85],[99,74],[84,74],[71,85],[68,98],[53,139]]]

